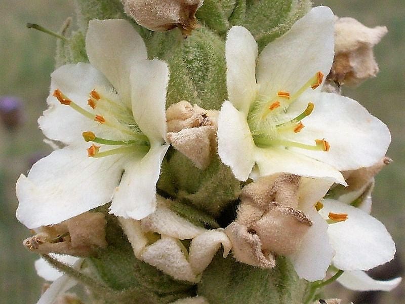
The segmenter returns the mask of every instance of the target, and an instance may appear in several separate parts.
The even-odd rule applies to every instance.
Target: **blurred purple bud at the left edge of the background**
[[[10,131],[17,128],[22,122],[22,102],[13,96],[0,98],[0,120]]]

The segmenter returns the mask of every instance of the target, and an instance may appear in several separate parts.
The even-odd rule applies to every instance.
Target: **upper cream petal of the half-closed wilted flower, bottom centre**
[[[157,232],[180,240],[192,239],[206,232],[203,227],[193,225],[165,206],[165,199],[157,197],[157,200],[163,201],[163,204],[158,204],[155,212],[142,219],[142,231]]]

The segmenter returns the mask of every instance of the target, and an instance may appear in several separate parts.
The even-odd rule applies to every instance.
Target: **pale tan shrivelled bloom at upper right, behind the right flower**
[[[373,47],[387,33],[385,26],[367,27],[353,18],[335,22],[335,59],[327,80],[355,86],[375,77],[378,65]]]

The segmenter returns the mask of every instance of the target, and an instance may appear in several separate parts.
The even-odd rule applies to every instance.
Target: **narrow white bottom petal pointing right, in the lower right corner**
[[[401,281],[402,278],[395,278],[387,281],[374,280],[361,270],[345,271],[343,275],[338,278],[338,282],[344,287],[358,291],[391,291],[396,286],[398,286]]]

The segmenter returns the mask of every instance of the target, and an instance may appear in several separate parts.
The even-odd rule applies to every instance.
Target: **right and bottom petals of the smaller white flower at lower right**
[[[346,220],[330,223],[328,235],[336,254],[335,268],[344,273],[338,282],[352,290],[385,290],[395,288],[401,278],[378,281],[370,278],[364,270],[384,264],[395,255],[395,243],[384,224],[367,212],[345,203],[326,199],[319,210],[324,219],[334,214],[347,216]]]

